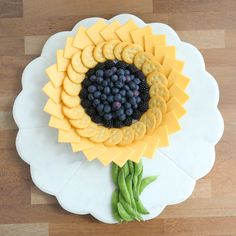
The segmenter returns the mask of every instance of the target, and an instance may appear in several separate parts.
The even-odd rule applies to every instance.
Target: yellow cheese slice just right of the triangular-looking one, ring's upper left
[[[99,44],[104,41],[100,32],[107,26],[104,20],[97,21],[94,25],[86,30],[89,38],[94,42],[94,44]]]

